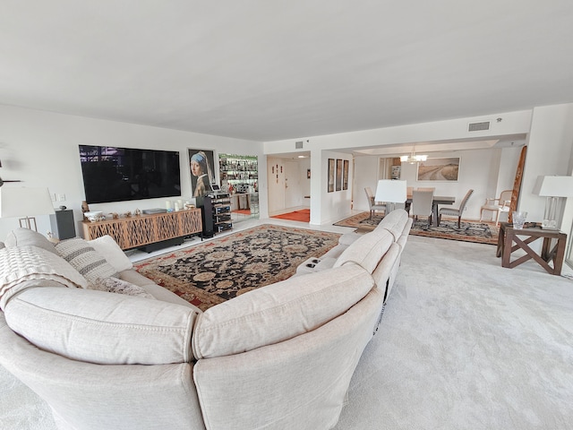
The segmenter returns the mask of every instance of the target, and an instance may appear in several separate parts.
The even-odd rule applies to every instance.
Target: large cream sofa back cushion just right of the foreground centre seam
[[[372,289],[355,264],[254,289],[199,315],[192,337],[196,358],[238,354],[275,344],[344,314]]]

